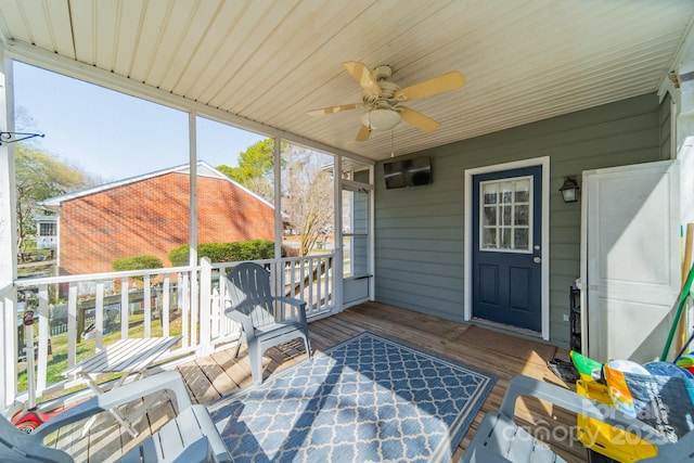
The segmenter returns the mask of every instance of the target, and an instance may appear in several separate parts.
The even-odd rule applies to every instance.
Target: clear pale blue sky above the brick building
[[[14,63],[15,107],[34,119],[35,144],[104,181],[188,164],[188,114]],[[239,153],[265,137],[197,118],[197,158],[236,165]]]

